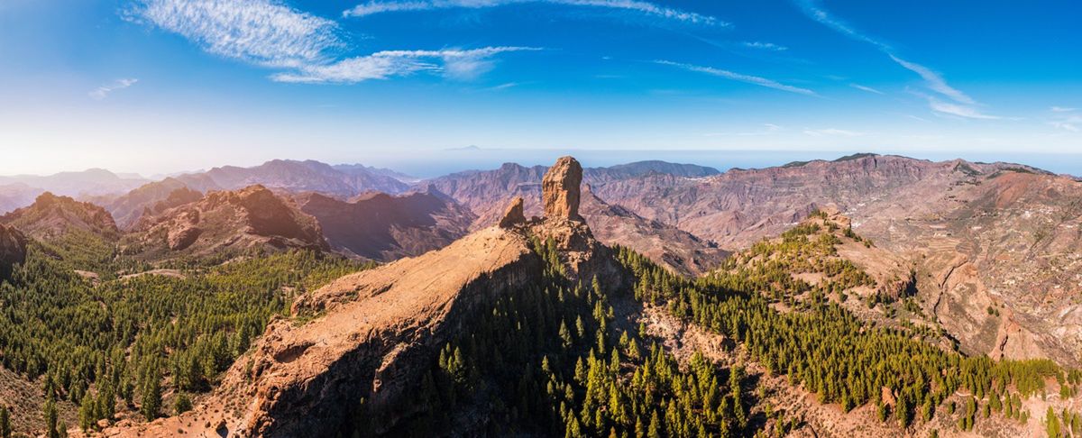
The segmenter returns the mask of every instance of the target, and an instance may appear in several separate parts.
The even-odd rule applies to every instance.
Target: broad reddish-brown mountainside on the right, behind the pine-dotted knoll
[[[925,311],[968,353],[1082,357],[1070,278],[1082,184],[1010,163],[857,155],[705,178],[650,174],[593,187],[610,202],[723,248],[775,236],[832,205],[914,263]]]

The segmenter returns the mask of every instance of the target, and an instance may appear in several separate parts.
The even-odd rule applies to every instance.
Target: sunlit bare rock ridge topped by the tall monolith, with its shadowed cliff
[[[581,177],[578,162],[563,160],[562,165],[560,172],[571,176],[562,181]],[[569,185],[551,185],[544,194],[546,200],[578,196],[579,187]],[[106,435],[327,436],[348,424],[361,399],[371,417],[380,419],[367,432],[390,430],[410,414],[392,408],[411,397],[406,388],[440,341],[479,305],[539,281],[544,263],[530,247],[531,236],[556,244],[572,280],[604,276],[619,284],[621,270],[607,248],[566,214],[572,205],[556,207],[554,216],[509,221],[302,295],[293,315],[314,319],[272,322],[195,411]]]

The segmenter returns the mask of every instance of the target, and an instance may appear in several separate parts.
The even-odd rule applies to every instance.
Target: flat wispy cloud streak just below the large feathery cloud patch
[[[490,47],[473,50],[383,51],[326,65],[303,66],[298,71],[281,72],[270,78],[278,82],[356,83],[431,71],[443,72],[450,79],[472,80],[491,69],[490,58],[497,54],[537,50],[541,49]]]

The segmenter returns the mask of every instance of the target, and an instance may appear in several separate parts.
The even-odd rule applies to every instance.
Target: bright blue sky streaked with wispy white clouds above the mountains
[[[565,151],[1082,174],[1078,29],[1072,1],[0,0],[0,174]]]

